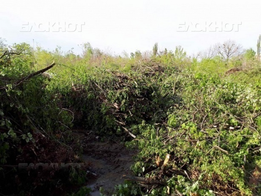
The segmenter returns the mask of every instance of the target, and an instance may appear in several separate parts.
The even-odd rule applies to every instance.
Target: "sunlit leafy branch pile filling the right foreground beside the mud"
[[[146,125],[150,134],[156,135],[154,140],[142,132],[137,139],[142,146],[139,161],[145,167],[141,173],[150,177],[125,178],[140,182],[148,193],[167,186],[167,193],[175,195],[182,195],[185,189],[190,195],[201,195],[200,189],[212,190],[215,195],[259,195],[260,91],[222,83],[218,78],[210,81],[207,76],[180,78],[175,93],[182,101],[169,108],[171,115],[165,122]],[[160,141],[158,147],[151,144],[155,140]],[[157,153],[150,152],[150,148]],[[165,159],[164,150],[168,152]],[[150,156],[144,157],[148,153]],[[191,187],[197,185],[197,190],[180,185],[178,176]],[[172,180],[183,187],[173,190]]]

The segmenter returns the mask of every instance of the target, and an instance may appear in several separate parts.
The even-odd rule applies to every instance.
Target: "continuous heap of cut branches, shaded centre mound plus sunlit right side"
[[[72,84],[63,107],[80,111],[78,121],[89,129],[135,138],[140,176],[125,178],[145,192],[258,193],[260,91],[150,64],[135,64],[130,73],[98,69]]]

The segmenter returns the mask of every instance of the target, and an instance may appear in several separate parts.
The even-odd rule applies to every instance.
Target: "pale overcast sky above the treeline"
[[[261,34],[261,1],[45,0],[2,1],[0,37],[8,44],[27,42],[68,51],[89,42],[121,54],[175,50],[193,55],[210,45],[235,40],[253,48]],[[34,41],[33,41],[34,40]]]

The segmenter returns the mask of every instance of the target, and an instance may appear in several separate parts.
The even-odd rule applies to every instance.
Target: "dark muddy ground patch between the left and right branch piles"
[[[106,194],[112,194],[115,185],[122,184],[123,175],[131,175],[132,157],[137,151],[126,149],[120,141],[113,138],[100,138],[92,131],[77,131],[83,144],[84,161],[88,163],[88,184],[93,192],[91,196],[99,196],[99,188]]]

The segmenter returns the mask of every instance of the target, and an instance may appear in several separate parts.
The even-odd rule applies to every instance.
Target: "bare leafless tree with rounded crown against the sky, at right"
[[[214,45],[214,50],[226,61],[243,53],[242,45],[236,44],[233,40],[225,41],[223,44],[218,43]]]

